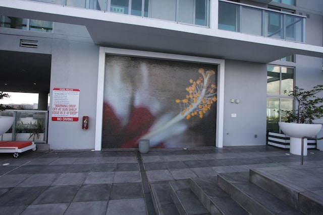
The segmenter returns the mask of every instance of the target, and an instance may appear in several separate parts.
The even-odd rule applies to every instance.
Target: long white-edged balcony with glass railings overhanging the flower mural
[[[119,0],[117,3],[124,1],[140,2],[142,11],[145,11],[144,4],[147,0]],[[99,2],[100,7],[93,8],[91,4],[86,5],[87,2]],[[304,17],[302,16],[228,3],[225,0],[148,0],[148,2],[148,15],[142,12],[141,16],[136,16],[129,10],[132,8],[131,5],[123,9],[111,8],[111,4],[105,5],[105,0],[1,0],[0,15],[85,26],[93,43],[99,46],[260,63],[268,63],[292,54],[323,57],[323,47],[304,42]],[[151,4],[155,2],[164,3],[155,9],[158,9],[159,14],[164,13],[164,15],[161,14],[164,18],[157,17],[157,14],[154,16]],[[174,6],[176,10],[171,9],[170,6],[170,3],[174,4],[174,2],[177,3]],[[207,7],[203,10],[201,7],[201,11],[206,13],[207,18],[204,24],[197,24],[199,22],[196,22],[194,10],[188,14],[190,19],[187,20],[190,22],[182,19],[180,3],[187,2],[206,3]],[[223,16],[230,15],[223,13],[223,3],[226,3],[228,8],[235,7],[235,13],[231,13],[229,18],[223,19]],[[101,4],[104,5],[102,7],[104,10]],[[191,5],[191,8],[194,5]],[[90,6],[92,10],[88,10],[91,9]],[[114,13],[111,10],[120,13]],[[185,12],[184,8],[182,10]],[[244,14],[248,16],[244,18]],[[232,16],[234,19],[230,18]],[[165,17],[172,17],[172,19]],[[273,26],[264,24],[268,18],[272,20]],[[277,20],[285,24],[278,25]],[[300,24],[302,24],[301,28],[298,27]],[[6,30],[0,28],[0,33],[8,34]],[[53,34],[55,33],[53,29]]]

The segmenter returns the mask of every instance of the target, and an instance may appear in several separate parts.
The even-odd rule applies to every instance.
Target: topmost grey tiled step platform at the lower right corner
[[[323,211],[323,168],[316,165],[250,170],[256,184],[305,214]]]

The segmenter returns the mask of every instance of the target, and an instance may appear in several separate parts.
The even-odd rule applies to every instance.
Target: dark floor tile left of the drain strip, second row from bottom
[[[142,198],[141,183],[117,183],[112,185],[110,199]]]

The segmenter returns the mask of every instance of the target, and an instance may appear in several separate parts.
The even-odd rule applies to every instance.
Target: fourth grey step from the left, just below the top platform
[[[249,172],[218,174],[217,184],[251,214],[303,214],[249,182]]]

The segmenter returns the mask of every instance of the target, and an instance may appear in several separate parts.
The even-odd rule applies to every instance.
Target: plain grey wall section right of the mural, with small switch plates
[[[223,145],[265,145],[266,64],[226,60],[225,74]]]

